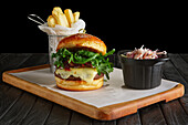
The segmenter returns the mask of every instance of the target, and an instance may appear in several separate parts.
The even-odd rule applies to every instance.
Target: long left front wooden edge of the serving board
[[[20,70],[18,70],[20,72]],[[17,76],[13,76],[9,74],[11,71],[3,72],[2,80],[6,83],[9,83],[18,88],[24,90],[29,93],[32,93],[34,95],[38,95],[40,97],[43,97],[45,100],[52,101],[56,104],[60,104],[62,106],[65,106],[67,108],[71,108],[73,111],[76,111],[81,114],[87,115],[92,118],[98,118],[98,114],[101,114],[101,111],[98,111],[97,107],[83,103],[81,101],[71,98],[66,95],[62,95],[58,92],[51,91],[49,88],[42,87],[38,84],[33,84],[31,82],[24,81],[22,79],[19,79]],[[15,72],[15,71],[13,71]],[[19,84],[17,84],[19,81]]]

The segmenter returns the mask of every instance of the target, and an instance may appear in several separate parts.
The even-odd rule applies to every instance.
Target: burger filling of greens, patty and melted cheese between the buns
[[[82,80],[88,83],[104,74],[109,79],[108,73],[113,72],[113,63],[108,61],[107,55],[114,52],[115,50],[112,50],[102,55],[102,53],[88,50],[60,49],[52,54],[52,58],[55,58],[55,76],[65,80]]]

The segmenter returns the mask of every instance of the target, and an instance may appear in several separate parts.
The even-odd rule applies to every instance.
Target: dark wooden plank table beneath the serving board
[[[164,79],[182,83],[188,91],[188,54],[169,54]],[[116,55],[111,56],[119,67]],[[1,53],[0,74],[8,70],[49,63],[46,53]],[[187,85],[187,86],[186,86]],[[188,92],[186,92],[188,93]],[[188,125],[188,94],[149,105],[115,121],[96,121],[0,80],[0,125]]]

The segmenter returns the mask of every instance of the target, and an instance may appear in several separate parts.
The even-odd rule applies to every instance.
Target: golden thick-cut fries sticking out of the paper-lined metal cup
[[[52,15],[48,18],[48,25],[54,28],[55,24],[71,28],[71,24],[76,22],[80,18],[80,12],[72,12],[71,9],[65,9],[64,13],[60,7],[54,7]]]

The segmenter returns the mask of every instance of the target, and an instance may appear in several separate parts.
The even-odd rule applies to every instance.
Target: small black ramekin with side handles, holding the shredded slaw
[[[130,50],[118,51],[118,59],[122,64],[124,83],[132,88],[154,88],[160,85],[163,65],[169,59],[135,60],[122,56]]]

